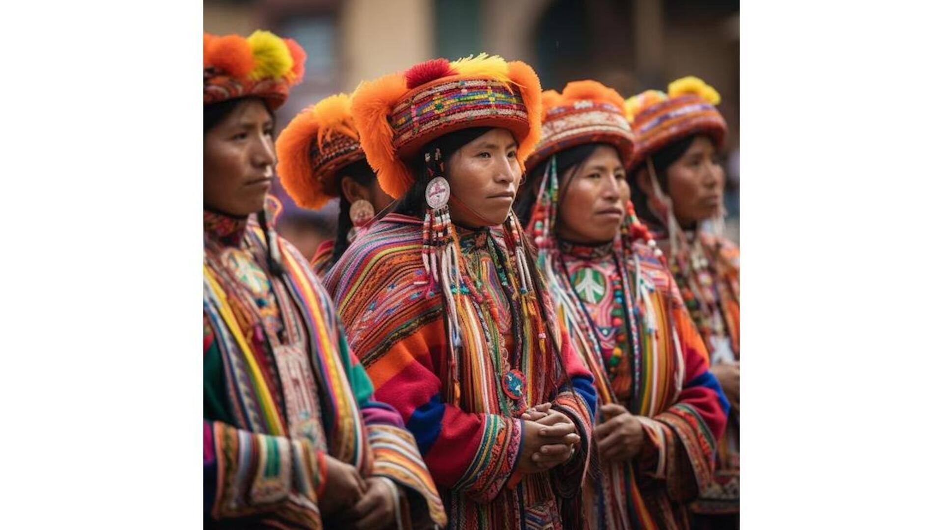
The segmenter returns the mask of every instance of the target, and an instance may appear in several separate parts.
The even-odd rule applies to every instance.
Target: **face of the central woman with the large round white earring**
[[[446,160],[445,173],[455,223],[474,228],[502,224],[521,184],[518,142],[507,129],[491,129],[455,151]]]

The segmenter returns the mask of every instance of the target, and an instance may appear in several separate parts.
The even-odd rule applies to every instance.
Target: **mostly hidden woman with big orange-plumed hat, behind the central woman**
[[[393,199],[367,164],[345,93],[295,116],[278,135],[275,152],[278,177],[298,206],[318,209],[339,197],[337,238],[324,241],[311,258],[314,272],[323,277],[376,212]]]

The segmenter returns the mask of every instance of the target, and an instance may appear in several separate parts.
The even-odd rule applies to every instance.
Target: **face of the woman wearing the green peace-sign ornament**
[[[557,215],[557,233],[563,240],[599,244],[616,238],[629,184],[619,152],[600,145],[563,175],[563,196]]]

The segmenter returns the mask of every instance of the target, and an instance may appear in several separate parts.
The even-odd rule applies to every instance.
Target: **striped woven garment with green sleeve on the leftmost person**
[[[205,212],[204,233],[205,525],[322,527],[326,455],[423,499],[415,522],[445,524],[415,439],[373,400],[304,257],[274,232],[270,249],[254,216]]]

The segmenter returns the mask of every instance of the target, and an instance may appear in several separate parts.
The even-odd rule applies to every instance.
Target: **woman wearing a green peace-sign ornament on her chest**
[[[596,81],[545,91],[543,136],[517,208],[599,394],[585,527],[686,528],[685,504],[709,480],[727,404],[635,219],[622,105]]]

